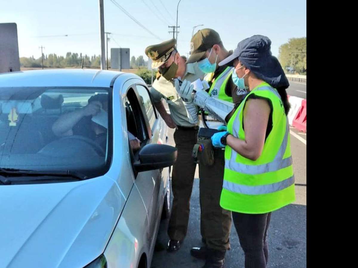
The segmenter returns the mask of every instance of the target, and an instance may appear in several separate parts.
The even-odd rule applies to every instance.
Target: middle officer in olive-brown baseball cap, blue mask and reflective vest
[[[198,63],[199,69],[206,73],[204,80],[208,81],[208,93],[213,98],[240,104],[246,96],[246,90],[238,90],[231,75],[232,63],[218,66],[218,63],[232,54],[227,51],[219,34],[213,29],[199,30],[190,43],[191,55],[189,63]],[[205,112],[205,114],[207,114]],[[221,121],[202,113],[206,118],[205,126],[217,129],[223,125]],[[202,123],[202,122],[201,122]],[[200,127],[204,127],[200,124]],[[200,230],[205,246],[192,248],[190,253],[196,258],[205,258],[204,267],[223,267],[226,250],[229,249],[229,234],[231,229],[231,212],[220,207],[220,195],[224,176],[224,150],[214,148],[214,164],[202,165],[199,162],[200,178]]]

